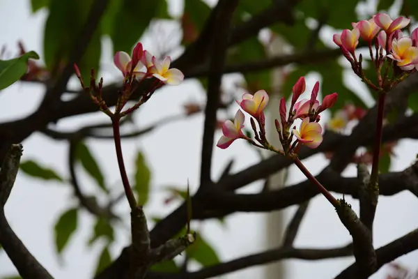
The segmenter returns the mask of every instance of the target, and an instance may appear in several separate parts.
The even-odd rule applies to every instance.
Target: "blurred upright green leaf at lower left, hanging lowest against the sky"
[[[59,252],[59,254],[61,254],[65,246],[68,244],[70,237],[77,229],[77,213],[77,209],[65,211],[55,224],[55,246],[56,251]]]

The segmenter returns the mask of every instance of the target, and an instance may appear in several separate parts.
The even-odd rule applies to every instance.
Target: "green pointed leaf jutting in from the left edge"
[[[0,90],[17,82],[26,74],[29,59],[39,59],[39,56],[32,51],[15,59],[0,60]]]

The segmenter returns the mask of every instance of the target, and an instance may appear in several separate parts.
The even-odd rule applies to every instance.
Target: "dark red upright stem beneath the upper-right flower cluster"
[[[386,93],[379,93],[378,97],[378,118],[376,120],[376,136],[373,146],[373,165],[371,166],[370,183],[371,185],[377,185],[379,174],[379,158],[380,148],[382,144],[382,127],[383,127],[383,114],[385,112],[385,100]]]

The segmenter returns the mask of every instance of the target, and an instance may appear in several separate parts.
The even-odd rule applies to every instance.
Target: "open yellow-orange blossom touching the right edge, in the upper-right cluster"
[[[392,40],[392,52],[387,57],[395,60],[402,70],[412,70],[412,64],[418,58],[418,48],[412,47],[412,40],[409,37],[394,38]]]

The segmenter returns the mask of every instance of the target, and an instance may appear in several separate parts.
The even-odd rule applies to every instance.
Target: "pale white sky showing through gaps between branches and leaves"
[[[178,13],[181,10],[181,1],[169,1],[171,12]],[[41,10],[31,15],[29,0],[3,0],[0,9],[0,45],[6,45],[8,50],[15,54],[17,40],[22,39],[27,50],[35,50],[42,57],[42,33],[47,13]],[[349,23],[348,23],[349,24]],[[155,46],[153,40],[144,38],[145,47],[153,53]],[[111,65],[112,54],[109,50],[109,42],[103,41],[104,52],[102,54],[102,66],[105,83],[119,77],[119,73]],[[153,48],[154,47],[154,48]],[[232,89],[232,82],[239,78],[238,75],[226,77],[226,89]],[[74,81],[72,81],[74,82]],[[313,85],[313,82],[309,84]],[[36,84],[14,84],[0,93],[0,121],[21,118],[36,110],[44,89]],[[203,89],[199,83],[187,80],[177,87],[165,87],[141,107],[137,114],[136,123],[146,126],[164,116],[172,116],[182,112],[183,103],[189,100],[204,100]],[[234,109],[235,110],[235,109]],[[72,130],[86,123],[103,122],[107,120],[104,114],[88,114],[71,119],[63,119],[58,123],[58,128]],[[169,206],[161,206],[167,193],[162,191],[164,186],[184,186],[189,179],[192,191],[196,190],[199,183],[200,149],[203,117],[193,116],[187,121],[176,123],[157,129],[155,132],[141,137],[139,140],[123,141],[123,152],[127,164],[127,171],[134,170],[133,160],[135,151],[141,149],[146,154],[153,175],[153,192],[150,195],[150,203],[146,206],[149,217],[163,217],[176,208],[177,203]],[[217,133],[217,137],[219,132]],[[66,167],[68,146],[64,142],[56,142],[36,133],[23,142],[23,160],[36,159],[38,162],[53,167],[64,177],[68,177]],[[122,190],[119,181],[118,167],[114,154],[114,146],[111,141],[89,140],[88,146],[98,158],[106,181],[112,190]],[[410,140],[403,140],[396,147],[397,158],[393,161],[392,170],[401,170],[408,167],[418,153],[418,144]],[[235,142],[229,149],[221,151],[215,149],[213,160],[214,178],[226,165],[229,159],[235,158],[233,172],[244,169],[256,163],[257,156],[254,151],[247,148],[245,142]],[[307,167],[313,173],[318,173],[325,167],[326,161],[322,155],[315,156],[306,161]],[[302,181],[304,177],[300,172],[291,167],[288,183]],[[86,193],[98,193],[97,187],[86,174],[80,171],[80,180]],[[353,176],[355,167],[350,167],[344,172]],[[252,183],[243,192],[254,192],[261,188],[261,183]],[[61,213],[77,204],[72,197],[72,189],[65,184],[45,182],[20,173],[15,183],[15,188],[6,206],[6,217],[18,236],[26,244],[40,262],[55,278],[91,278],[95,269],[98,253],[104,243],[95,243],[92,248],[86,247],[86,242],[91,234],[93,218],[82,212],[79,220],[79,229],[71,239],[70,244],[63,252],[59,260],[54,249],[52,227]],[[346,197],[353,208],[358,208],[357,200]],[[100,200],[100,197],[99,197]],[[292,212],[292,206],[286,212]],[[393,239],[398,238],[415,229],[418,225],[416,212],[418,203],[416,197],[410,193],[401,193],[393,197],[380,197],[376,213],[376,247],[382,246]],[[129,216],[127,203],[119,206],[118,211],[126,217]],[[235,213],[226,218],[226,225],[221,226],[217,221],[209,220],[205,223],[195,223],[195,227],[203,229],[203,235],[209,239],[223,260],[235,259],[242,255],[265,250],[263,241],[264,215],[261,213]],[[289,215],[288,215],[289,216]],[[127,219],[126,219],[127,220]],[[249,229],[251,228],[251,229]],[[126,227],[117,229],[116,243],[111,247],[112,257],[119,255],[121,248],[129,243],[129,234]],[[300,228],[300,233],[295,241],[296,247],[324,248],[346,244],[350,236],[341,225],[334,209],[322,197],[313,199],[309,206]],[[414,266],[418,259],[418,252],[401,257],[399,262]],[[353,259],[330,259],[318,262],[302,260],[286,260],[289,278],[333,278],[344,269]],[[223,278],[262,278],[263,267],[245,269],[232,273]],[[0,276],[11,275],[15,269],[4,252],[0,252]],[[313,276],[314,275],[314,276]],[[372,278],[384,278],[385,269],[382,269]]]

